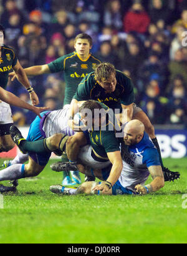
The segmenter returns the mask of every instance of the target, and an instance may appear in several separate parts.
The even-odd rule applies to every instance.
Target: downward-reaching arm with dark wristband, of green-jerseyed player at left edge
[[[14,69],[14,72],[16,74],[17,80],[21,82],[21,84],[27,89],[27,91],[30,94],[30,99],[32,101],[33,105],[39,104],[39,99],[37,97],[36,92],[34,92],[34,89],[31,87],[31,84],[29,83],[29,80],[27,78],[26,72],[22,68],[21,64],[17,60],[16,65],[12,67]]]

